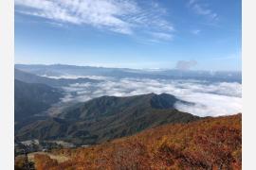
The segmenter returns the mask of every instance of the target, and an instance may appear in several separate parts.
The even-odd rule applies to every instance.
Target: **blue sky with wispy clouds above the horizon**
[[[15,0],[15,63],[241,70],[241,0]]]

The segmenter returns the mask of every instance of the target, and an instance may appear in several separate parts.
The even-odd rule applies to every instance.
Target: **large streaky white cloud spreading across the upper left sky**
[[[143,6],[139,3],[134,0],[15,0],[15,11],[58,24],[94,26],[128,35],[142,27],[162,34],[174,31],[174,26],[164,19],[164,8],[157,3]]]

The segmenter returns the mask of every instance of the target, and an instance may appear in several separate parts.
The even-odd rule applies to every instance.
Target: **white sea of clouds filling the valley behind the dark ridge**
[[[63,102],[87,101],[102,95],[130,96],[144,93],[170,93],[194,105],[177,102],[177,110],[199,116],[219,116],[242,111],[242,84],[195,79],[149,79],[106,77],[99,83],[75,83],[64,87]]]

